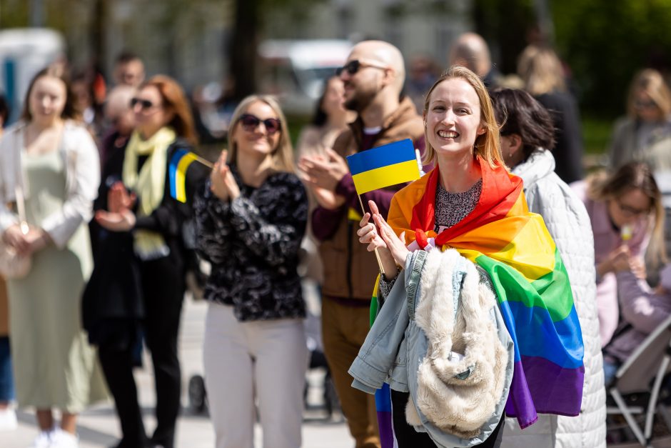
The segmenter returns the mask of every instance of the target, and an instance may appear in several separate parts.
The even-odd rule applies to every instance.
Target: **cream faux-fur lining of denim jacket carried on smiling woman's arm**
[[[493,319],[495,296],[475,265],[454,249],[428,253],[418,296],[414,318],[428,346],[406,419],[420,427],[419,411],[441,431],[471,439],[505,400],[510,364]]]

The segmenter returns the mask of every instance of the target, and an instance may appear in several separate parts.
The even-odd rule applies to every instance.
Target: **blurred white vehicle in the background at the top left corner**
[[[9,122],[21,114],[28,84],[46,66],[64,58],[65,39],[46,28],[0,31],[0,91],[11,108]]]

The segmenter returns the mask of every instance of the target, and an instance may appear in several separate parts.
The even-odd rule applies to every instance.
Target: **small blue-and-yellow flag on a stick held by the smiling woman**
[[[347,156],[358,194],[420,178],[413,141],[405,139]]]

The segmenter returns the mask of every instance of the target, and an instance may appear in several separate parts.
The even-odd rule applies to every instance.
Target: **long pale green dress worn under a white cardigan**
[[[21,154],[27,188],[26,218],[40,226],[66,199],[59,151]],[[8,282],[11,354],[16,400],[21,407],[56,408],[72,414],[106,398],[96,352],[81,329],[81,294],[93,268],[91,241],[81,224],[67,247],[33,255],[24,279]]]

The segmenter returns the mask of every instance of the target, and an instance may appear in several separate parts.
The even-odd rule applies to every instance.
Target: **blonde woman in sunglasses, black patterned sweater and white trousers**
[[[196,196],[198,249],[212,264],[203,362],[217,448],[301,446],[308,362],[296,272],[308,199],[286,119],[268,96],[233,112],[223,151]]]

